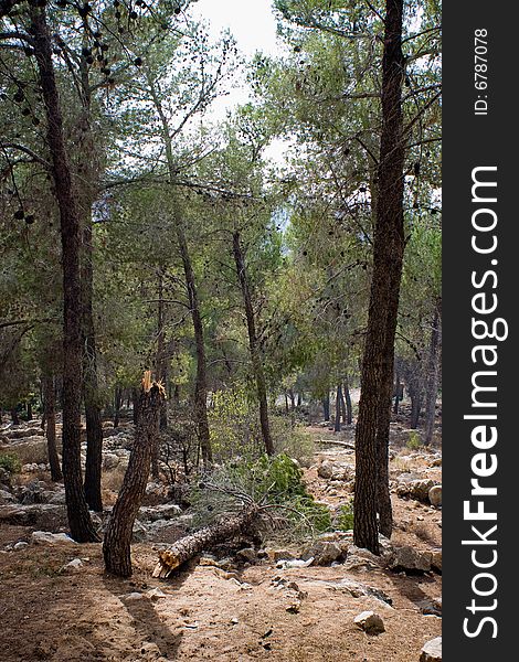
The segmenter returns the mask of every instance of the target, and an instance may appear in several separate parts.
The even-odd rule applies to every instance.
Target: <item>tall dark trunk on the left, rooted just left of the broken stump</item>
[[[47,145],[60,210],[63,265],[63,478],[71,536],[97,541],[83,491],[81,470],[81,275],[80,216],[63,138],[63,119],[45,9],[31,9],[33,47],[47,120]]]

